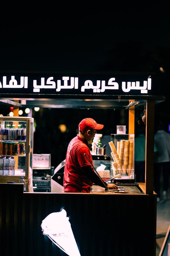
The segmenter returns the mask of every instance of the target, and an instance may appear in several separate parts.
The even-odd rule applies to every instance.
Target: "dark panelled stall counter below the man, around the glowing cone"
[[[40,226],[64,208],[81,256],[155,256],[156,194],[110,194],[98,186],[89,194],[22,189],[21,184],[0,184],[2,255],[23,256],[22,248],[25,256],[66,255]]]

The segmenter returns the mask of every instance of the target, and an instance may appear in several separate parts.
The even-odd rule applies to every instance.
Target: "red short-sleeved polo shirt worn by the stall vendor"
[[[81,167],[90,165],[84,153],[92,163],[88,142],[77,134],[67,148],[66,163],[64,169],[64,191],[89,193],[93,185],[83,173]]]

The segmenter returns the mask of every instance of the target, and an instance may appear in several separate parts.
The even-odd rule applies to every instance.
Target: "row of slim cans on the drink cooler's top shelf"
[[[26,140],[26,128],[1,128],[0,140]]]

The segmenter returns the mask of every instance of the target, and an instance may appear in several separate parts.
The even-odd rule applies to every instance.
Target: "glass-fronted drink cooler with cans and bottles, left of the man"
[[[3,170],[0,183],[18,183],[23,176],[27,192],[33,192],[33,127],[32,117],[0,117],[0,157],[15,159],[14,175]]]

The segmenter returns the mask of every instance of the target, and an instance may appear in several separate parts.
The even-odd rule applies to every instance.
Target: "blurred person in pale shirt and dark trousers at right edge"
[[[157,202],[160,201],[160,175],[163,176],[163,200],[167,200],[170,170],[170,134],[165,131],[164,124],[159,122],[156,127],[154,141],[157,154],[154,159],[154,189],[157,194]]]

